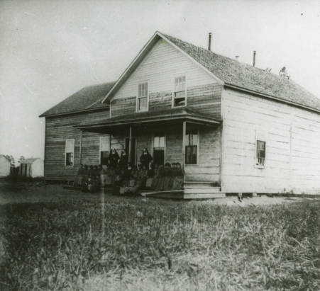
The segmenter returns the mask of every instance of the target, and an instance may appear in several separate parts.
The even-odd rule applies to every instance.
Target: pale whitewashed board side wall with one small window
[[[320,193],[320,115],[232,90],[222,94],[222,190]],[[255,140],[266,142],[265,169]]]

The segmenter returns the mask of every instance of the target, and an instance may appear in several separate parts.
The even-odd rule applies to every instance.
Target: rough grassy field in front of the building
[[[0,290],[320,290],[320,202],[0,206]]]

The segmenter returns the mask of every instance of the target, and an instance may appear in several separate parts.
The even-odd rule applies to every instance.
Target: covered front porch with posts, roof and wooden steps
[[[174,108],[158,113],[135,113],[81,124],[81,135],[98,132],[109,146],[104,151],[126,149],[131,164],[140,162],[143,148],[153,156],[154,164],[179,163],[184,171],[183,188],[179,191],[145,191],[145,195],[167,198],[220,198],[221,123],[188,108]],[[102,149],[102,150],[101,150]],[[80,161],[82,144],[80,143]]]

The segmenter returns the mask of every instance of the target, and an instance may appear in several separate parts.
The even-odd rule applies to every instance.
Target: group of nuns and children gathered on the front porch
[[[113,186],[114,194],[136,194],[140,188],[153,190],[179,190],[183,184],[183,172],[180,163],[154,164],[153,157],[144,148],[140,163],[132,166],[128,162],[126,151],[119,156],[111,149],[106,165],[87,166],[80,164],[74,186],[84,192],[96,192],[104,186]]]

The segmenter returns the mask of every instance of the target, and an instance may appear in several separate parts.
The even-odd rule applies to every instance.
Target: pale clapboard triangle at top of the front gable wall
[[[203,69],[182,55],[165,40],[159,40],[140,62],[136,70],[116,92],[114,99],[136,96],[138,84],[148,81],[148,92],[173,90],[175,76],[186,76],[187,87],[212,84],[216,81]]]

